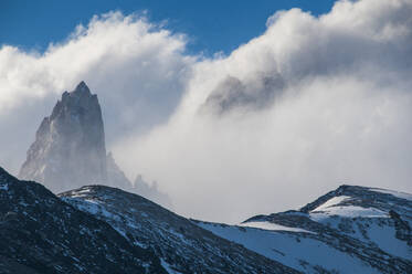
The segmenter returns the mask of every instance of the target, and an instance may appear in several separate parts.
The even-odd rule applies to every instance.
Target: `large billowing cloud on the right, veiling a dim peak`
[[[411,192],[411,8],[277,12],[230,56],[197,63],[169,123],[118,144],[122,165],[163,183],[179,212],[219,221],[340,183]]]

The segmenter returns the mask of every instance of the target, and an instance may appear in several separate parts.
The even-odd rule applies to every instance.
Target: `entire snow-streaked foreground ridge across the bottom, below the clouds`
[[[412,196],[340,186],[237,225],[188,220],[138,194],[59,197],[0,168],[1,273],[410,273]]]

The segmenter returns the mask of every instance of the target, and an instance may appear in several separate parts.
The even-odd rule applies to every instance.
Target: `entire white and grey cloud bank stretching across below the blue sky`
[[[214,59],[119,13],[45,54],[3,46],[0,125],[17,131],[1,151],[13,151],[3,138],[34,133],[55,92],[85,78],[119,166],[157,180],[184,215],[239,222],[344,182],[412,192],[410,14],[410,0],[338,1],[318,18],[281,11]]]

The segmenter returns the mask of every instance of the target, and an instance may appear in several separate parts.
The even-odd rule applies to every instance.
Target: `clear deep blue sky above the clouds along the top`
[[[150,21],[168,21],[167,29],[186,33],[190,53],[230,53],[262,34],[277,10],[300,8],[313,14],[328,12],[334,0],[102,0],[0,2],[0,44],[44,51],[50,42],[64,40],[78,23],[94,14],[120,10],[125,14],[147,11]]]

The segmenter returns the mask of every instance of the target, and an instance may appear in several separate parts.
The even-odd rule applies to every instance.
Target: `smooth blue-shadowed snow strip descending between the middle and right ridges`
[[[198,225],[303,273],[318,273],[314,271],[316,265],[332,273],[379,273],[361,260],[311,238],[216,223]]]

